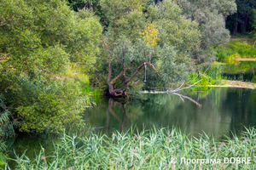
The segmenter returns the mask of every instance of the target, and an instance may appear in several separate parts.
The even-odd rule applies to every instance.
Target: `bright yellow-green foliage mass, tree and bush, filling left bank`
[[[83,122],[88,82],[70,75],[93,71],[101,33],[90,11],[75,13],[65,1],[1,0],[0,93],[20,131],[59,132]]]

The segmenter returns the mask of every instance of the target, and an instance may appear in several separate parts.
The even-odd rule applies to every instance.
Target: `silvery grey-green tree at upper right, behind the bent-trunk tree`
[[[225,18],[236,12],[235,0],[175,0],[182,14],[198,23],[201,31],[201,52],[198,61],[214,59],[212,46],[227,42],[230,32],[225,29]]]

